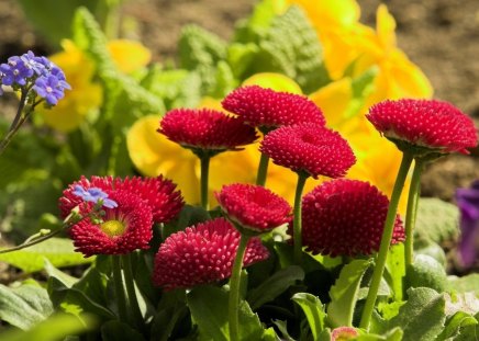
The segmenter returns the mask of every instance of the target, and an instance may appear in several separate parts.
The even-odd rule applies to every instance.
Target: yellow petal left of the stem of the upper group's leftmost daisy
[[[176,184],[185,200],[199,203],[198,158],[179,145],[156,132],[159,115],[149,115],[136,121],[126,135],[130,158],[144,175],[163,174]]]

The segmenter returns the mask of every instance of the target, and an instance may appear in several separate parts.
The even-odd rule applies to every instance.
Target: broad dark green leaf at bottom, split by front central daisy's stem
[[[200,334],[214,341],[230,340],[229,292],[213,286],[198,286],[187,294],[187,304]],[[238,319],[239,340],[263,339],[265,330],[259,318],[245,300],[239,303]]]

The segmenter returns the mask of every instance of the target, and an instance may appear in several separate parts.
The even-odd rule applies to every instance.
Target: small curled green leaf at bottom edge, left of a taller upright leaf
[[[303,310],[313,338],[318,340],[319,334],[324,329],[324,319],[326,318],[326,312],[324,311],[324,306],[320,298],[308,293],[298,293],[294,294],[291,299]]]

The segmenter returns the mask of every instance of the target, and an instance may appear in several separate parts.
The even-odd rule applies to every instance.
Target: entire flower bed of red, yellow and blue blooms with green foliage
[[[146,68],[85,8],[64,52],[0,66],[20,94],[1,228],[35,232],[0,260],[44,274],[0,285],[2,340],[478,334],[478,277],[447,276],[438,246],[458,209],[420,198],[426,164],[477,147],[471,118],[428,99],[386,7],[375,32],[354,1],[291,2],[259,2],[230,43],[185,27],[180,68]]]

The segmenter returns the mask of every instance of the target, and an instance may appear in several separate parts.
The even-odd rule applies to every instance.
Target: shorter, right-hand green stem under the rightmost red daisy
[[[409,189],[408,208],[405,213],[405,241],[404,241],[404,263],[408,268],[412,264],[414,250],[414,225],[417,214],[417,203],[421,194],[421,174],[424,170],[424,162],[415,159],[414,171],[412,172],[411,186]]]

